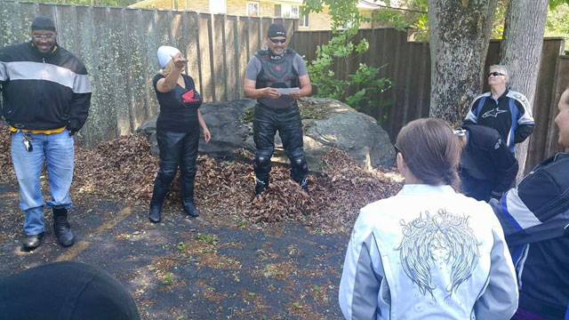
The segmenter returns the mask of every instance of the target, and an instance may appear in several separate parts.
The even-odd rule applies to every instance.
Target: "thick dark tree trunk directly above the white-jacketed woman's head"
[[[429,0],[430,116],[461,123],[482,90],[498,0]]]

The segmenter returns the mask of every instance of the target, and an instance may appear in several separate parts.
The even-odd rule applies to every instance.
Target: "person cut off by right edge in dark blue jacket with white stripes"
[[[569,148],[569,88],[562,94],[559,144]],[[491,200],[517,271],[513,319],[569,319],[569,153],[538,164],[517,188]]]

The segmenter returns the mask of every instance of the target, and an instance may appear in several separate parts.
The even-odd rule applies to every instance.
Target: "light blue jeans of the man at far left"
[[[47,179],[52,198],[48,208],[71,207],[69,187],[73,179],[73,137],[64,130],[60,133],[29,133],[32,151],[27,151],[22,139],[24,132],[12,133],[12,162],[20,185],[20,210],[26,212],[24,233],[36,235],[44,232],[44,197],[40,176],[46,162]]]

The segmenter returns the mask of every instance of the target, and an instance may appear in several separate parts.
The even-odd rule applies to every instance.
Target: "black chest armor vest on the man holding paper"
[[[260,73],[257,76],[256,89],[262,88],[294,88],[298,87],[298,72],[293,68],[293,58],[296,52],[291,49],[284,51],[283,57],[278,60],[271,59],[270,54],[264,50],[255,53],[260,60]]]

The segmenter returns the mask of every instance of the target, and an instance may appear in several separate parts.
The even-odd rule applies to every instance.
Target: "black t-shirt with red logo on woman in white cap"
[[[164,75],[154,76],[152,83],[156,98],[160,104],[160,115],[156,120],[156,129],[170,132],[192,132],[199,130],[197,109],[202,105],[202,96],[197,92],[194,79],[184,77],[186,88],[176,84],[171,92],[158,92],[156,84]]]

